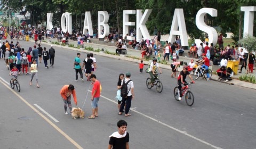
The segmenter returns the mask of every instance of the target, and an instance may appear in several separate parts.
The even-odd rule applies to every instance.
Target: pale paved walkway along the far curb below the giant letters
[[[45,42],[42,42],[42,43],[46,43],[46,44],[52,44],[52,42],[57,42],[57,39],[55,38],[50,38],[50,39],[45,39],[44,40]],[[31,39],[31,42],[33,42],[33,39]],[[60,43],[61,44],[61,43]],[[69,45],[70,44],[74,44],[74,47],[77,47],[77,41],[74,41],[74,40],[69,40]],[[57,44],[53,44],[54,46],[60,46],[60,47],[63,47],[61,45],[57,45]],[[100,41],[98,38],[93,38],[91,39],[91,42],[90,43],[84,43],[84,46],[85,47],[92,47],[95,49],[104,49],[104,51],[109,51],[111,53],[115,53],[115,50],[116,50],[116,47],[114,46],[115,43],[111,43],[111,42],[108,42],[108,43],[105,43],[103,41]],[[66,46],[67,47],[67,46]],[[77,49],[77,48],[71,48],[71,47],[67,47],[69,49],[75,49],[76,51],[85,51],[84,49],[80,48],[80,49]],[[91,51],[87,51],[87,52],[91,52]],[[185,51],[186,52],[186,51]],[[93,52],[95,54],[98,54],[98,55],[103,55],[103,56],[108,56],[108,57],[113,57],[115,59],[122,59],[122,60],[128,60],[128,61],[133,61],[133,62],[137,62],[137,63],[140,63],[140,58],[141,58],[141,52],[139,50],[135,50],[135,49],[132,49],[132,47],[129,45],[128,46],[128,49],[127,49],[127,55],[111,55],[111,54],[105,54],[103,52]],[[185,61],[187,63],[190,62],[192,58],[190,57],[185,57],[185,56],[179,56],[179,61]],[[143,63],[145,64],[148,64],[149,62],[148,61],[143,61]],[[164,69],[171,69],[170,67],[170,64],[172,63],[172,60],[169,60],[169,62],[167,64],[161,64],[159,63],[159,66],[161,68],[164,68]],[[212,62],[211,62],[212,63]],[[241,65],[239,65],[239,68],[241,68]],[[238,69],[239,69],[238,68]],[[219,66],[217,65],[213,65],[212,64],[212,71],[216,71],[217,69],[219,69]],[[179,70],[182,70],[182,67],[179,68]],[[238,70],[239,71],[239,70]],[[242,87],[247,87],[247,88],[252,88],[252,89],[256,89],[256,84],[251,84],[249,82],[245,82],[245,81],[240,81],[238,80],[239,76],[242,76],[245,74],[245,70],[243,70],[243,73],[238,73],[238,74],[235,74],[234,76],[234,79],[231,80],[231,81],[228,81],[227,83],[230,84],[230,85],[238,85],[238,86],[242,86]],[[253,76],[256,77],[256,73],[255,71],[253,72],[253,74],[251,74]],[[212,75],[211,77],[212,80],[215,80],[215,81],[218,81],[218,76],[217,74],[214,74]]]

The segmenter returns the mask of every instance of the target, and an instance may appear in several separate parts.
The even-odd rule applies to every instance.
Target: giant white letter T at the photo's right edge
[[[246,35],[253,36],[253,19],[256,6],[241,7],[244,11],[244,37]]]

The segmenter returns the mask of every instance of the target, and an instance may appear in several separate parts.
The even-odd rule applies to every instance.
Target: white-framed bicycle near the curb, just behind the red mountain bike
[[[208,73],[209,73],[209,77],[211,78],[212,70],[208,69]],[[199,78],[199,76],[201,76],[201,77],[204,76],[204,78],[207,79],[206,69],[202,68],[201,64],[198,64],[195,69],[190,71],[190,76],[193,78],[193,80],[197,80]]]

